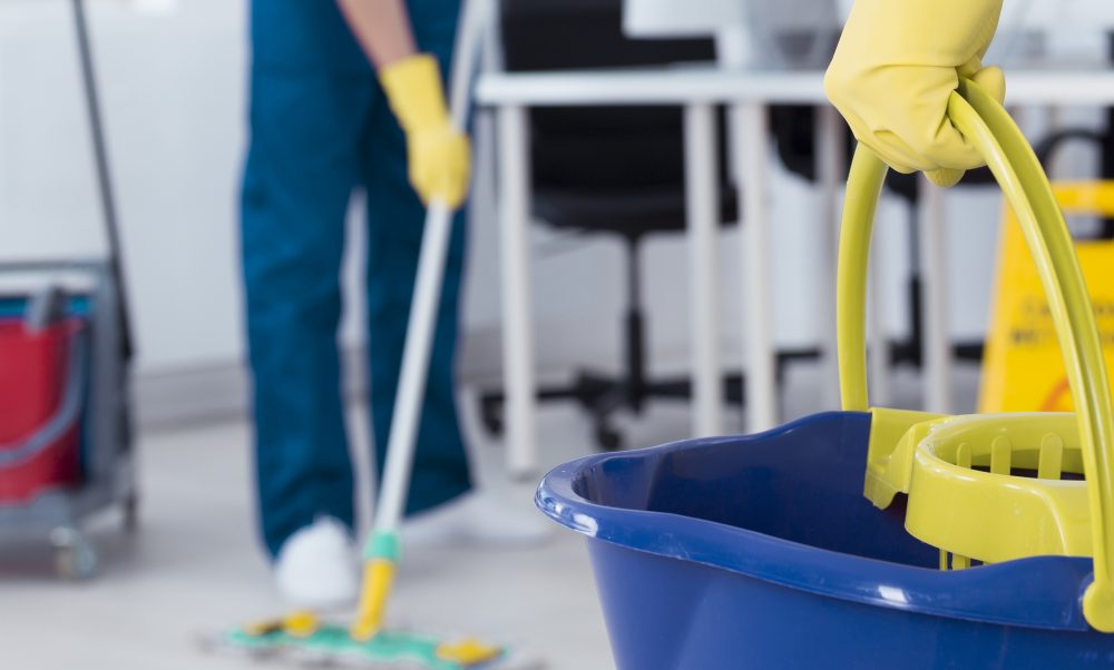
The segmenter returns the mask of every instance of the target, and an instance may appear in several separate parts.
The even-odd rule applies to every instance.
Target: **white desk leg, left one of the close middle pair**
[[[693,436],[723,433],[723,381],[716,297],[720,228],[715,115],[709,104],[685,107],[685,217],[692,292]]]

